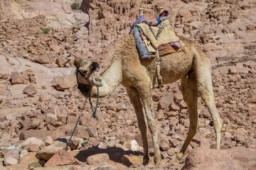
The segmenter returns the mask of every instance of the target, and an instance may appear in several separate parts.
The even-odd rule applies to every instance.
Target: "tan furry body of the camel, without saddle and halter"
[[[220,149],[220,135],[223,124],[215,107],[210,60],[196,45],[196,42],[183,37],[179,38],[181,44],[185,45],[186,53],[174,52],[161,57],[160,64],[163,84],[171,84],[181,79],[183,99],[188,107],[190,120],[188,136],[181,151],[176,155],[177,161],[183,157],[186,148],[198,130],[198,93],[203,98],[213,118],[216,149]],[[149,163],[148,128],[154,143],[154,164],[159,165],[161,163],[156,118],[151,96],[151,86],[156,78],[156,72],[154,72],[156,66],[152,64],[153,60],[140,60],[134,36],[127,35],[115,51],[112,63],[105,72],[101,75],[97,71],[92,72],[92,76],[88,80],[78,73],[78,84],[82,87],[82,90],[80,90],[85,96],[87,96],[90,86],[92,86],[92,97],[97,96],[96,86],[100,86],[100,97],[109,96],[119,84],[127,89],[127,94],[137,115],[139,130],[142,133],[144,165]],[[90,70],[90,63],[90,61],[81,60],[80,62],[76,61],[75,65],[82,74],[87,74]]]

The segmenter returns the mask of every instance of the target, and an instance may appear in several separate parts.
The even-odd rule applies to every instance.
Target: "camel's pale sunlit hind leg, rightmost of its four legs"
[[[201,50],[201,49],[200,49]],[[206,103],[211,117],[213,118],[215,135],[216,135],[216,149],[220,149],[220,137],[223,122],[220,119],[217,108],[215,106],[213,96],[213,84],[211,79],[210,60],[201,51],[198,51],[200,55],[195,57],[195,72],[197,79],[197,89],[203,101]]]

